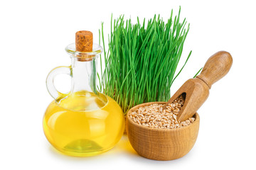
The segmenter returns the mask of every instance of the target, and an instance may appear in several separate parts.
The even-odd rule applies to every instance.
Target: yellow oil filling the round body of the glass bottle
[[[64,154],[87,157],[117,144],[124,132],[122,109],[109,96],[99,96],[80,91],[50,103],[43,130],[53,147]]]

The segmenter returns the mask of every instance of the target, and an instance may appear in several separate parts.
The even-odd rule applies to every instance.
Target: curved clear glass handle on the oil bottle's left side
[[[46,78],[46,87],[48,89],[50,96],[52,96],[55,99],[55,101],[58,101],[60,98],[64,98],[65,96],[68,96],[68,94],[63,94],[55,88],[54,86],[55,76],[57,76],[58,74],[68,74],[71,76],[70,68],[71,67],[68,67],[68,66],[55,67],[50,71],[50,73]]]

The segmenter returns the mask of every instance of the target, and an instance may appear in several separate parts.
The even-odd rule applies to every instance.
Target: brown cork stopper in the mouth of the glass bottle
[[[78,52],[92,52],[92,32],[80,30],[75,33],[75,49]],[[80,61],[90,60],[88,56],[82,56]]]

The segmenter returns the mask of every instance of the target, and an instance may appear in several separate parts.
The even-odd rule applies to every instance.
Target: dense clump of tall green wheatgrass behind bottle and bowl
[[[107,51],[102,23],[105,69],[101,70],[101,77],[98,74],[98,90],[114,98],[124,113],[140,103],[169,100],[171,84],[192,52],[174,77],[189,30],[189,24],[185,28],[186,18],[180,23],[180,13],[181,8],[173,21],[171,10],[167,23],[156,15],[147,24],[145,19],[141,24],[139,18],[132,24],[131,19],[124,20],[124,16],[112,23],[111,18]],[[102,57],[100,65],[102,67]]]

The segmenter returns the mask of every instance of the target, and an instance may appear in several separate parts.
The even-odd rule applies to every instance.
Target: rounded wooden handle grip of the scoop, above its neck
[[[229,52],[220,51],[212,55],[203,67],[198,79],[203,80],[209,88],[227,74],[232,66],[233,58]]]

